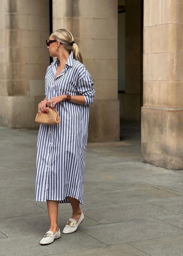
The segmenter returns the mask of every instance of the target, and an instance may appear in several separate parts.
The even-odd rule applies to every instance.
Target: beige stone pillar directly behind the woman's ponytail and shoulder
[[[95,83],[88,141],[118,141],[117,0],[53,0],[53,31],[74,36]]]

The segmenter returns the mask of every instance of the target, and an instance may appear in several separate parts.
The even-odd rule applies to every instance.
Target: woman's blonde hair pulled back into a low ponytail
[[[78,61],[80,61],[81,63],[83,63],[83,58],[82,55],[79,51],[79,47],[77,46],[76,43],[74,43],[73,45],[70,45],[70,43],[72,41],[74,41],[74,37],[73,35],[70,33],[70,31],[61,28],[59,30],[55,30],[52,33],[53,38],[55,38],[55,40],[60,41],[63,44],[63,47],[70,53],[71,51],[73,51],[73,57],[75,59],[77,59]]]

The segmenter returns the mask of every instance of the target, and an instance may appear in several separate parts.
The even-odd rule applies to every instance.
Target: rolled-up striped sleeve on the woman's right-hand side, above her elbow
[[[92,77],[90,74],[82,77],[78,81],[78,92],[79,95],[84,96],[85,104],[91,105],[94,102],[95,90],[94,90],[94,82],[92,81]]]

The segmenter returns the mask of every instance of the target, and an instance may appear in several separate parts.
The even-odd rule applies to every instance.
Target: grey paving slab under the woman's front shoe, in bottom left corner
[[[80,232],[61,234],[60,238],[48,245],[40,245],[39,241],[44,232],[31,235],[18,235],[0,239],[1,256],[35,256],[51,255],[56,253],[73,252],[81,249],[105,246],[102,242]]]

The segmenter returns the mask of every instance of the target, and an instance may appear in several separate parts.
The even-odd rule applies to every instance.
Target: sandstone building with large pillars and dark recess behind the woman
[[[45,40],[66,28],[95,83],[88,141],[141,122],[142,161],[183,169],[182,14],[181,0],[1,0],[1,124],[38,129]]]

